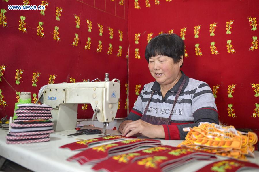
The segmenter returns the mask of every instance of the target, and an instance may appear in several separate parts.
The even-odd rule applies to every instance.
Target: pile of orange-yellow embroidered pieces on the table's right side
[[[240,132],[234,126],[222,127],[215,123],[200,123],[198,127],[183,128],[188,131],[185,139],[178,147],[193,148],[227,156],[239,160],[246,160],[246,156],[254,157],[254,144],[257,135],[254,132]]]

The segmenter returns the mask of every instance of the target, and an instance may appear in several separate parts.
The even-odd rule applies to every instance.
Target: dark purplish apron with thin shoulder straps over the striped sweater
[[[183,87],[184,87],[185,81],[186,81],[186,75],[184,75],[184,80],[183,80],[182,84],[180,85],[180,87],[179,87],[179,89],[178,89],[178,91],[177,91],[177,94],[176,94],[176,96],[175,96],[175,100],[174,100],[174,102],[173,102],[173,108],[175,107],[175,103],[176,103],[176,101],[177,101],[177,99],[178,99],[178,97],[179,97],[179,95],[180,95],[180,92],[182,91],[182,89],[183,89]],[[172,117],[171,114],[172,114],[172,112],[173,112],[173,108],[172,108],[172,111],[171,111],[171,113],[170,113],[170,115],[169,115],[168,118],[155,117],[155,116],[151,116],[151,115],[147,115],[147,114],[146,114],[147,111],[148,111],[148,106],[149,106],[149,103],[150,103],[150,100],[151,100],[153,94],[154,94],[154,91],[153,91],[152,94],[151,94],[151,97],[150,97],[150,99],[149,99],[149,101],[148,101],[148,105],[146,106],[145,111],[144,111],[144,113],[143,113],[141,119],[142,119],[143,121],[146,121],[146,122],[151,123],[151,124],[153,124],[153,125],[163,125],[163,124],[171,125],[171,117]]]

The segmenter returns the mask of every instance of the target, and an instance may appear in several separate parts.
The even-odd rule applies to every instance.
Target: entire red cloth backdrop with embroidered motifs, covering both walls
[[[7,26],[0,26],[0,65],[6,65],[4,77],[16,91],[29,91],[38,94],[41,86],[48,84],[49,75],[56,74],[55,83],[76,82],[83,79],[103,80],[104,73],[110,73],[110,79],[121,81],[120,109],[116,117],[126,117],[126,86],[129,81],[129,110],[137,98],[136,85],[154,81],[148,71],[145,60],[145,46],[148,33],[153,37],[159,32],[173,32],[180,35],[180,29],[186,27],[185,44],[188,57],[184,57],[182,70],[190,78],[207,82],[211,88],[220,85],[216,94],[220,121],[237,128],[259,129],[259,110],[255,111],[259,97],[255,96],[252,83],[259,84],[258,49],[249,51],[252,37],[258,37],[258,29],[252,31],[248,17],[258,21],[258,0],[249,1],[144,1],[139,0],[139,9],[133,0],[50,0],[45,16],[39,10],[8,10],[7,5],[22,5],[22,1],[0,1],[0,9],[6,9]],[[146,7],[150,3],[150,7]],[[31,0],[29,5],[41,5],[41,1]],[[135,8],[136,6],[136,8]],[[56,7],[63,8],[60,21],[55,19]],[[74,14],[80,17],[80,28],[76,28]],[[27,33],[18,30],[20,16],[26,16]],[[88,32],[86,19],[92,21],[92,32]],[[231,34],[226,34],[226,22],[234,20]],[[37,36],[38,22],[44,22],[44,38]],[[217,23],[215,36],[210,36],[209,25]],[[99,36],[97,23],[103,25],[103,36]],[[194,26],[201,25],[199,38],[194,38]],[[54,27],[59,27],[60,42],[53,39]],[[109,38],[107,27],[113,28],[113,39]],[[258,27],[257,27],[258,28]],[[123,32],[119,41],[118,30]],[[78,46],[73,47],[75,33],[79,35]],[[135,44],[135,34],[141,33],[139,44]],[[91,47],[85,50],[87,37],[91,38]],[[97,53],[98,41],[102,41],[102,52]],[[235,53],[227,52],[227,40]],[[215,42],[218,55],[211,54],[210,43]],[[108,55],[109,43],[112,54]],[[199,44],[202,56],[195,55],[195,44]],[[119,46],[122,55],[117,57]],[[129,46],[128,59],[126,58]],[[135,57],[139,49],[140,58]],[[128,65],[128,69],[127,69]],[[15,84],[16,69],[23,69],[20,85]],[[33,72],[40,72],[37,87],[32,86]],[[2,78],[2,77],[1,77]],[[3,78],[2,78],[3,79]],[[8,106],[0,105],[0,115],[13,114],[16,92],[3,79],[0,82],[1,95]],[[228,86],[237,84],[228,98]],[[259,89],[258,89],[259,90]],[[259,91],[258,91],[259,92]],[[228,116],[228,104],[232,104],[235,117]],[[91,118],[92,108],[81,110],[78,106],[78,118]],[[259,109],[259,108],[258,108]],[[233,112],[233,111],[232,111]],[[253,112],[257,115],[252,117]]]

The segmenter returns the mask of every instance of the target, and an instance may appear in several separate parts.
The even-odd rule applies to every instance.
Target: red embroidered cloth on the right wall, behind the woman
[[[259,129],[259,111],[252,117],[255,97],[252,83],[259,84],[258,49],[249,51],[252,36],[259,36],[257,30],[252,31],[248,17],[258,21],[259,1],[138,1],[140,9],[134,1],[129,1],[129,110],[133,107],[136,85],[141,84],[140,91],[146,83],[154,81],[145,60],[147,36],[173,29],[180,35],[180,29],[186,27],[185,44],[188,57],[184,57],[182,71],[197,80],[205,81],[211,89],[217,84],[216,104],[219,119],[236,128]],[[135,8],[136,6],[136,8]],[[226,22],[234,20],[231,34],[226,34]],[[215,36],[210,36],[209,27],[217,23]],[[199,38],[194,38],[194,27],[201,25]],[[139,44],[135,44],[135,34],[141,33]],[[236,53],[227,52],[227,40],[232,40]],[[257,39],[258,40],[258,39]],[[210,43],[215,42],[218,55],[211,54]],[[202,56],[195,55],[195,44],[199,43]],[[135,49],[139,49],[140,59],[135,57]],[[228,98],[228,85],[237,84]],[[139,91],[139,93],[140,93]],[[259,88],[258,88],[259,91]],[[232,104],[235,116],[228,116],[228,104]],[[259,108],[258,108],[259,109]]]

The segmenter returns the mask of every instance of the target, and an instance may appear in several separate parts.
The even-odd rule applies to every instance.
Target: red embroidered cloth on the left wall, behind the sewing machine
[[[40,10],[8,10],[7,5],[23,5],[22,1],[0,1],[0,9],[6,9],[7,26],[0,26],[0,64],[6,65],[3,77],[16,91],[26,91],[38,94],[41,86],[48,84],[49,76],[55,74],[54,83],[70,82],[70,77],[76,82],[83,79],[104,80],[105,73],[109,73],[110,80],[118,78],[121,82],[120,109],[116,117],[126,117],[127,109],[125,84],[128,83],[126,58],[128,52],[128,1],[120,5],[115,1],[58,1],[47,0],[45,16]],[[29,5],[41,5],[39,0],[31,0]],[[56,20],[56,7],[63,9],[60,21]],[[74,14],[80,17],[80,28],[76,28]],[[20,16],[25,16],[27,33],[18,30]],[[92,22],[92,32],[88,32],[86,19]],[[44,37],[37,33],[38,22],[43,22]],[[103,35],[99,36],[98,23],[103,25]],[[60,42],[53,39],[54,27],[59,27]],[[113,29],[110,39],[108,27]],[[118,30],[123,32],[122,41],[119,40]],[[75,33],[79,35],[78,46],[72,46]],[[84,47],[91,38],[90,49]],[[97,52],[98,41],[102,42],[102,51]],[[112,54],[108,55],[109,43],[112,44]],[[122,54],[117,57],[119,46]],[[23,69],[20,85],[15,84],[16,69]],[[40,72],[37,87],[32,86],[33,72]],[[1,77],[2,78],[2,77]],[[17,102],[16,92],[2,78],[0,89],[7,105],[0,105],[0,117],[12,116],[14,104]],[[78,105],[78,118],[92,118],[93,110],[88,105],[81,110]]]

